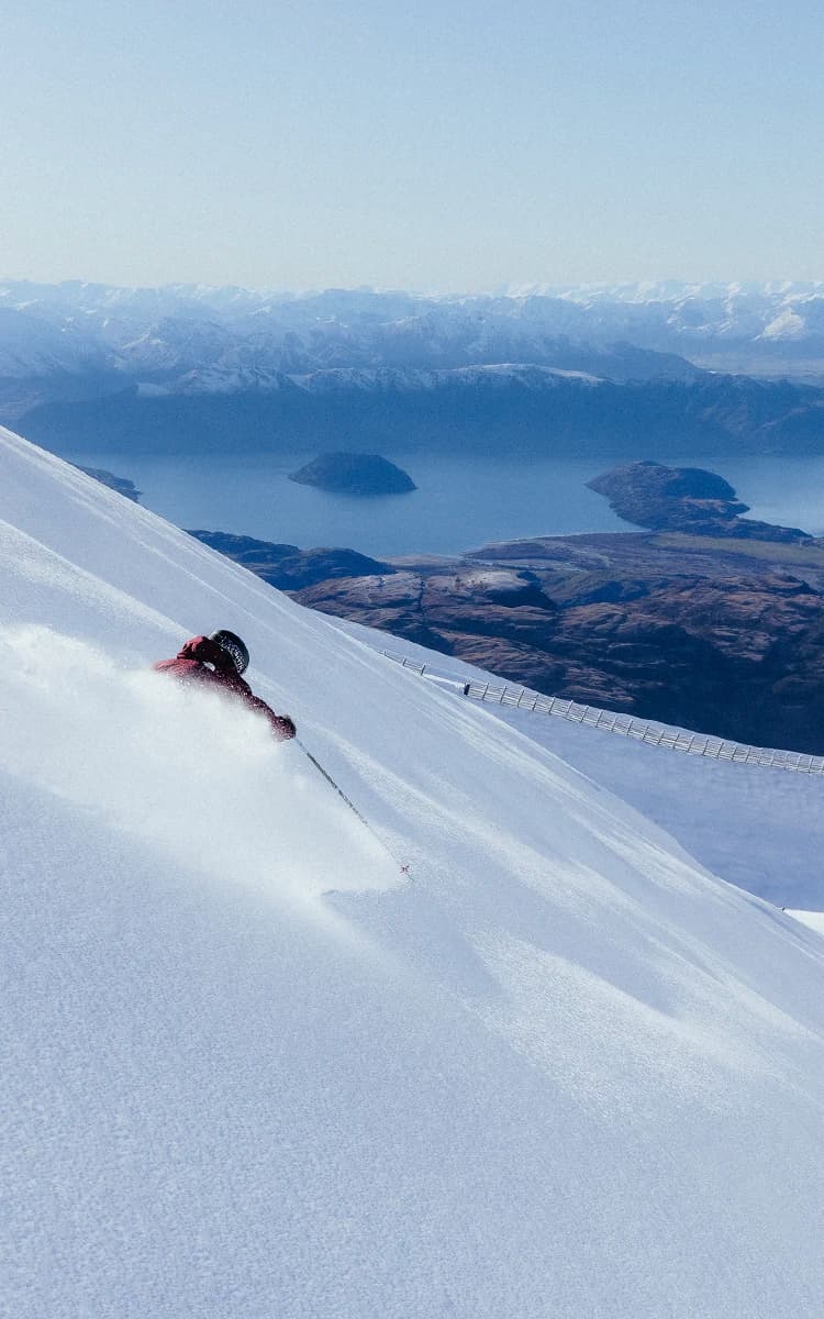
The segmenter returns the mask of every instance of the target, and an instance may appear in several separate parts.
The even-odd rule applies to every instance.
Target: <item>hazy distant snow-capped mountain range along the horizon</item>
[[[67,376],[203,392],[272,388],[326,368],[534,363],[610,380],[691,379],[700,365],[815,375],[824,284],[534,286],[423,295],[285,294],[170,285],[0,282],[0,383]],[[76,389],[76,380],[75,380]],[[42,390],[41,390],[42,393]],[[55,394],[51,394],[55,396]]]

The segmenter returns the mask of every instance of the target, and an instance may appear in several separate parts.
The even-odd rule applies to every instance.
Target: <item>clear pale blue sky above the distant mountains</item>
[[[3,26],[0,274],[824,277],[812,0],[32,0]]]

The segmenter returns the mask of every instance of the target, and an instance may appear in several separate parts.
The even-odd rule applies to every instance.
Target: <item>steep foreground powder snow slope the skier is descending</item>
[[[16,1316],[813,1314],[824,943],[0,435]],[[225,625],[382,832],[146,674]]]

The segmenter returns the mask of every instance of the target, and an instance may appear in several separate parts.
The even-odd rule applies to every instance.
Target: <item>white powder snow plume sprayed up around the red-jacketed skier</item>
[[[392,863],[290,743],[236,702],[50,628],[8,629],[0,766],[212,880],[289,906],[386,888]],[[4,707],[4,708],[3,708]]]

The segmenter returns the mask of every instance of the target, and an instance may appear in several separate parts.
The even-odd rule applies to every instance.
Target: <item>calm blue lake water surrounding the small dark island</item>
[[[629,530],[585,481],[609,459],[518,463],[436,454],[386,454],[410,474],[409,495],[332,495],[289,480],[315,452],[128,458],[73,455],[87,467],[128,476],[141,503],[178,526],[235,532],[264,541],[348,546],[364,554],[456,554],[525,536]],[[824,458],[692,456],[719,472],[751,505],[751,517],[824,534]],[[674,460],[675,464],[675,460]]]

